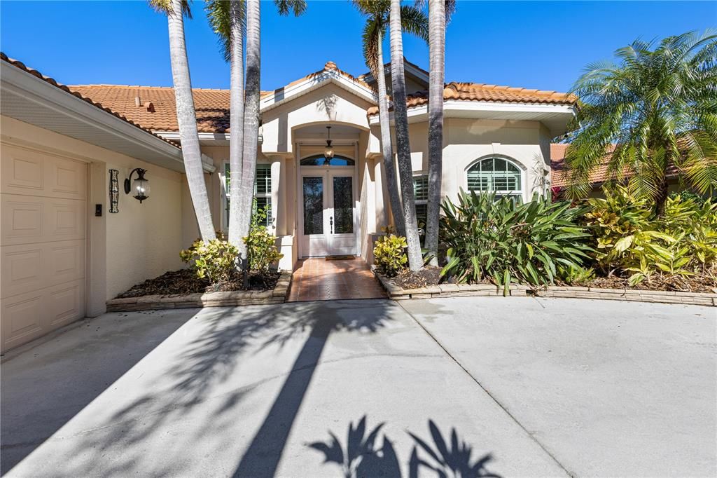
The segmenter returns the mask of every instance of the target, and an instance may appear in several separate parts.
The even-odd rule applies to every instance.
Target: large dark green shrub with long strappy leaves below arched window
[[[590,261],[589,233],[577,224],[583,207],[538,195],[523,204],[464,191],[456,205],[445,200],[441,207],[441,240],[448,247],[441,274],[457,282],[491,278],[507,294],[511,282],[548,285],[559,266],[580,268]]]

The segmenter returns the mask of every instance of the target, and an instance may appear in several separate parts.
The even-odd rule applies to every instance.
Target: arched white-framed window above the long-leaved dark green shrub
[[[495,192],[497,197],[523,197],[523,174],[512,161],[503,158],[486,158],[468,168],[468,190]]]

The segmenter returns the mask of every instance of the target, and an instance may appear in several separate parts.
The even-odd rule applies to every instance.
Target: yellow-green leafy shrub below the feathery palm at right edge
[[[595,259],[603,273],[631,273],[635,286],[655,273],[690,276],[717,260],[717,204],[672,195],[657,217],[650,204],[626,187],[591,199],[585,215],[595,238]]]

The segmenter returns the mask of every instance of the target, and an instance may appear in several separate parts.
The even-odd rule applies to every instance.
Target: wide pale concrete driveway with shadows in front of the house
[[[105,314],[4,357],[2,469],[714,476],[716,322],[527,298]]]

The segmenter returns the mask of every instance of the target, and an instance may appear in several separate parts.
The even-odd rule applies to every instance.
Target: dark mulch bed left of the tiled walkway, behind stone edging
[[[196,294],[204,292],[228,292],[228,291],[267,291],[274,289],[279,280],[280,273],[272,272],[268,276],[250,274],[249,286],[242,287],[243,278],[236,274],[229,279],[216,284],[209,283],[206,279],[196,276],[191,269],[180,269],[169,271],[159,277],[148,279],[142,283],[132,286],[128,291],[118,294],[117,299],[139,296],[169,296],[176,294]]]

